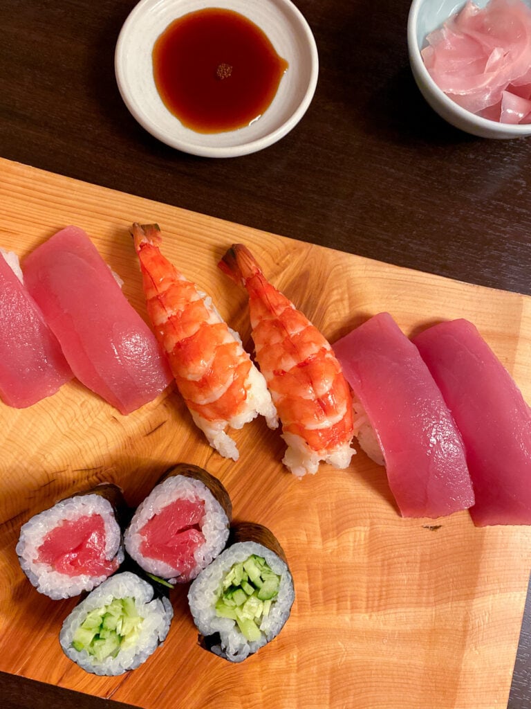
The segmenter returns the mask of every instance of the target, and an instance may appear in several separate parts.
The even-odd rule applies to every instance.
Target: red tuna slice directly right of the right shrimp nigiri
[[[333,346],[382,449],[404,517],[440,517],[474,504],[455,422],[416,347],[389,313]]]

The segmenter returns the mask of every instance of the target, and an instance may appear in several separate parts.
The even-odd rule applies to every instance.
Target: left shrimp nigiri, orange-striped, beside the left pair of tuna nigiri
[[[178,390],[210,445],[237,460],[239,452],[227,428],[242,428],[258,414],[270,428],[278,425],[265,379],[211,298],[161,254],[158,225],[133,224],[131,233],[149,318]]]

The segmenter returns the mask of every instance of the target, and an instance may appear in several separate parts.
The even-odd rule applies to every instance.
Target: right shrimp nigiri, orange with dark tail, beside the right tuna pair
[[[265,279],[244,245],[233,245],[219,268],[249,293],[256,361],[287,443],[282,462],[297,477],[314,474],[321,460],[348,467],[352,395],[329,342]]]

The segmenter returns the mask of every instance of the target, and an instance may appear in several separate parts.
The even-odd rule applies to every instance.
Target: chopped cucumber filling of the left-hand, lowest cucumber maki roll
[[[143,618],[138,615],[135,598],[115,598],[108,605],[87,613],[74,632],[72,646],[103,661],[116,657],[120,649],[132,647],[139,637]]]

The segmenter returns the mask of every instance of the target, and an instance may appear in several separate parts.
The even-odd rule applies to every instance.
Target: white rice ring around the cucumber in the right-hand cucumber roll
[[[263,557],[271,571],[280,576],[278,596],[271,604],[268,615],[258,624],[262,635],[258,640],[249,642],[232,618],[219,618],[215,605],[219,598],[219,588],[225,574],[233,564],[244,562],[251,554]],[[273,640],[290,617],[290,610],[295,600],[295,590],[290,570],[285,562],[274,552],[258,542],[237,542],[219,554],[210,566],[202,571],[193,581],[188,591],[188,603],[195,625],[205,637],[218,632],[221,642],[213,646],[212,652],[227,657],[232,662],[241,662]]]

